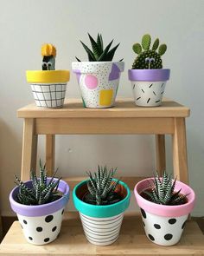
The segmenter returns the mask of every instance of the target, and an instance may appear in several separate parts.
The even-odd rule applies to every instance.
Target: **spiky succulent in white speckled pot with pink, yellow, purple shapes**
[[[111,108],[115,104],[120,73],[124,71],[124,62],[112,62],[119,43],[111,49],[112,42],[104,47],[103,38],[98,34],[95,41],[89,39],[92,50],[82,43],[88,55],[88,62],[72,63],[73,73],[76,74],[80,85],[80,94],[86,108]]]

